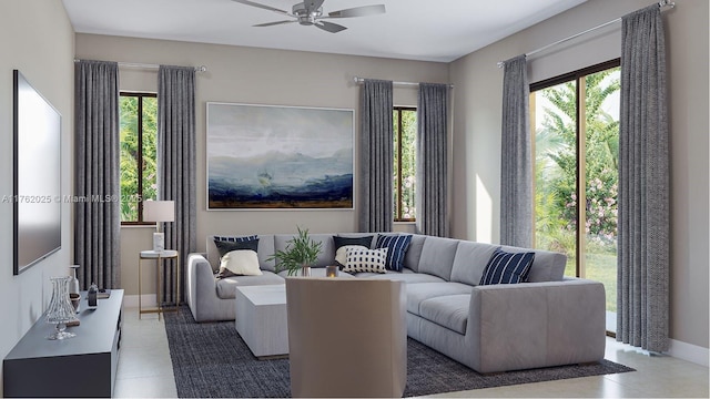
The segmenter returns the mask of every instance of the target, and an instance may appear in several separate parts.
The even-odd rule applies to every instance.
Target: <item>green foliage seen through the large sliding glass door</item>
[[[619,79],[607,70],[586,76],[586,196],[585,232],[599,244],[617,236],[619,122],[601,104],[618,92]],[[536,214],[538,235],[566,249],[557,231],[577,231],[577,133],[575,82],[541,90],[551,104],[545,110],[544,129],[536,132]],[[574,255],[574,254],[571,254]]]

